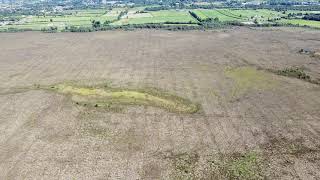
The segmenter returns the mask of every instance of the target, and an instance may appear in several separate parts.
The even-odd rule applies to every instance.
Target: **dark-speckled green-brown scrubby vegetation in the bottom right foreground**
[[[294,140],[283,137],[271,138],[259,146],[259,151],[249,150],[241,153],[200,155],[195,152],[181,154],[171,152],[164,158],[172,163],[173,179],[260,180],[270,178],[270,172],[274,173],[272,168],[274,163],[284,162],[286,166],[293,166],[293,163],[288,162],[296,158],[307,160],[319,156],[319,147],[306,146],[302,138]]]

